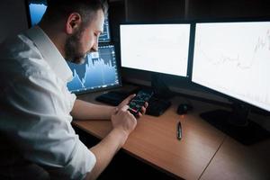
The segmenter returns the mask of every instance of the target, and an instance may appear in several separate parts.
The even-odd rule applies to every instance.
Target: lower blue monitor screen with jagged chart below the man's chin
[[[89,53],[82,65],[67,64],[73,72],[67,88],[75,94],[121,85],[113,45],[100,46],[98,52]]]

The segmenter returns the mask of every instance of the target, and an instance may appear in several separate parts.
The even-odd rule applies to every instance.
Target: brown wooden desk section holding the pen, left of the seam
[[[82,97],[93,101],[96,94]],[[136,129],[130,134],[123,149],[130,155],[184,179],[198,179],[217,152],[225,135],[215,130],[198,117],[196,109],[209,108],[196,104],[194,112],[180,118],[176,105],[181,98],[175,98],[173,105],[163,115],[157,117],[144,115]],[[201,107],[199,107],[201,106]],[[176,139],[176,123],[182,122],[183,139]],[[74,125],[102,139],[112,130],[110,121],[74,121]]]

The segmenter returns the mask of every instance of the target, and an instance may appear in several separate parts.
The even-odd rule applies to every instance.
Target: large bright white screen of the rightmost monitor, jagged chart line
[[[192,81],[270,112],[270,22],[196,23]]]

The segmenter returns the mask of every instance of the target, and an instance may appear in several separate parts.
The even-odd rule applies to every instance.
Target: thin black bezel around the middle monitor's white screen
[[[181,79],[185,79],[185,80],[191,80],[190,75],[191,75],[191,42],[193,40],[193,36],[192,36],[192,27],[193,27],[193,23],[191,21],[166,21],[166,22],[124,22],[124,23],[120,23],[120,62],[121,62],[121,25],[158,25],[158,24],[189,24],[190,25],[190,33],[189,33],[189,45],[188,45],[188,58],[187,58],[187,69],[186,69],[186,76],[179,76],[179,75],[172,75],[172,74],[167,74],[167,73],[162,73],[162,72],[156,72],[156,71],[150,71],[150,70],[143,70],[143,69],[139,69],[139,68],[132,68],[132,67],[122,67],[121,63],[120,63],[120,67],[121,68],[126,68],[126,69],[133,69],[139,72],[145,72],[145,73],[150,73],[151,75],[160,75],[160,76],[170,76],[170,77],[174,77],[174,78],[181,78]]]

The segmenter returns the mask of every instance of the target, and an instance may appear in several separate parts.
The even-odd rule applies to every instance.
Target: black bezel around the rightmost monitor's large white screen
[[[195,42],[195,33],[196,33],[196,24],[197,23],[264,23],[264,22],[269,22],[270,23],[270,18],[268,17],[259,17],[259,18],[221,18],[221,19],[211,19],[211,20],[198,20],[198,21],[193,21],[193,44],[192,44],[192,49],[193,53],[191,54],[191,71],[190,71],[190,82],[193,86],[197,88],[202,88],[202,90],[209,92],[211,94],[216,94],[219,95],[220,97],[226,98],[229,100],[229,102],[232,103],[240,103],[243,106],[253,110],[254,112],[270,115],[270,110],[266,110],[265,108],[259,107],[256,104],[246,102],[242,99],[238,99],[237,97],[234,97],[230,94],[225,94],[220,92],[219,90],[216,90],[214,88],[211,88],[206,85],[201,85],[199,83],[193,82],[193,56],[194,56],[194,42]]]

